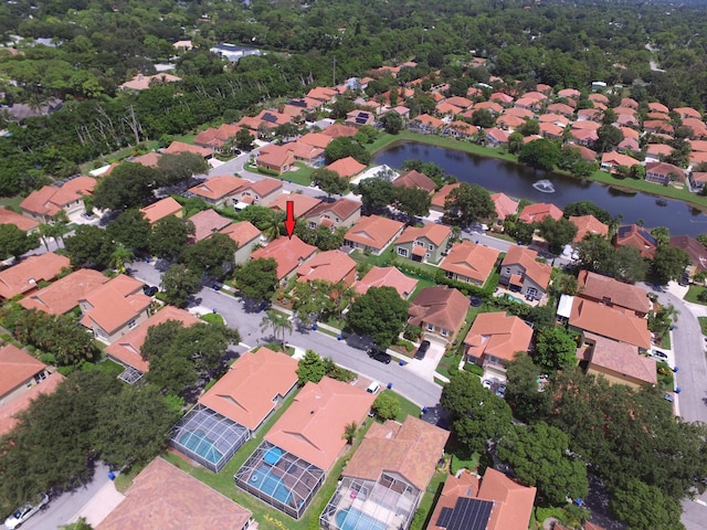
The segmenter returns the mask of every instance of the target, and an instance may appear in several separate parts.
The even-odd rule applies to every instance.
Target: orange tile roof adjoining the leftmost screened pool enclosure
[[[199,403],[255,433],[297,384],[297,361],[262,347],[243,353]]]

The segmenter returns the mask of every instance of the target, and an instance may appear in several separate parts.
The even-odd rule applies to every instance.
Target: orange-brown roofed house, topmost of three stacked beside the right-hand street
[[[639,318],[644,318],[653,307],[644,289],[609,276],[580,271],[577,284],[577,296],[580,298],[597,301],[606,307],[626,309]]]

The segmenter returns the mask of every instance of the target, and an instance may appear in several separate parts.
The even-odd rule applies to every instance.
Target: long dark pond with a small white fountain
[[[622,215],[623,223],[643,220],[645,226],[667,226],[673,235],[707,233],[707,215],[683,201],[661,199],[643,192],[624,192],[595,182],[573,179],[517,163],[486,158],[468,152],[429,146],[418,141],[401,141],[376,153],[374,163],[402,168],[405,160],[419,158],[434,162],[462,182],[483,186],[493,192],[504,192],[516,199],[552,202],[564,208],[571,202],[592,201],[612,215]],[[542,182],[547,180],[555,191]]]

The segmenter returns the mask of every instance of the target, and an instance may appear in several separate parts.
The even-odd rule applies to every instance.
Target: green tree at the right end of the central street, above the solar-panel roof
[[[450,413],[452,432],[469,452],[485,453],[489,441],[500,439],[510,431],[510,407],[484,389],[473,373],[452,375],[440,403]]]

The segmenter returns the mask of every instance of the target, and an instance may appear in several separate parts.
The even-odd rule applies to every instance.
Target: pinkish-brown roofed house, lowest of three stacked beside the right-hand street
[[[612,384],[636,390],[657,384],[655,360],[639,354],[639,348],[626,342],[584,331],[577,358],[585,373],[605,378]]]

